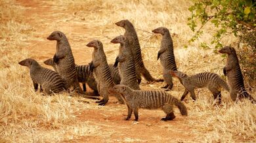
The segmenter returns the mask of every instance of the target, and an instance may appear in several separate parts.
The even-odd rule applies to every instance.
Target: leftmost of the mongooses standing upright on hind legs
[[[56,53],[53,61],[56,63],[56,72],[66,80],[67,87],[73,87],[75,91],[83,93],[78,83],[75,60],[66,35],[60,31],[51,33],[48,40],[56,40]]]

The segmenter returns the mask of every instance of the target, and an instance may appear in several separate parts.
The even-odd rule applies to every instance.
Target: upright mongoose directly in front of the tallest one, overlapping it
[[[119,43],[119,54],[116,57],[116,64],[119,63],[119,73],[121,76],[120,84],[131,87],[131,89],[139,90],[139,83],[137,82],[135,60],[133,59],[133,53],[129,46],[127,39],[120,35],[113,40],[112,43]]]

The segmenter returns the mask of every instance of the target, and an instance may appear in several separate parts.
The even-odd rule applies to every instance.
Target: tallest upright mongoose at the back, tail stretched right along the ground
[[[135,66],[136,66],[137,78],[138,78],[139,84],[141,81],[140,74],[142,74],[142,76],[144,76],[144,78],[148,82],[163,82],[163,79],[153,78],[150,75],[150,72],[148,72],[148,70],[146,69],[146,67],[142,61],[140,43],[139,43],[139,39],[137,37],[135,28],[133,27],[133,24],[131,24],[131,22],[129,22],[129,20],[121,20],[119,22],[116,22],[116,25],[119,27],[123,27],[125,29],[124,36],[129,41],[131,50],[133,52],[133,58],[135,59]]]

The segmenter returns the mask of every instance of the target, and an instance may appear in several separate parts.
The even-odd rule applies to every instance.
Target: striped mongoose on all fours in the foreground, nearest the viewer
[[[173,105],[179,108],[183,116],[188,115],[186,106],[184,106],[181,101],[165,91],[133,90],[128,86],[119,84],[110,89],[110,92],[120,93],[123,99],[125,99],[125,103],[128,107],[128,116],[125,118],[126,120],[129,120],[131,118],[131,114],[134,112],[135,121],[138,121],[139,108],[162,108],[163,112],[165,112],[167,115],[161,120],[172,120],[175,118],[173,113]]]

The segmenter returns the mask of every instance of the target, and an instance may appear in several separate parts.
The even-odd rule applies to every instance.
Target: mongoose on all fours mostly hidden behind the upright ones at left
[[[52,66],[54,71],[56,71],[56,65],[53,62],[53,58],[47,59],[43,63],[45,63],[45,65]],[[114,83],[120,84],[121,77],[119,75],[118,68],[114,67],[113,64],[110,64],[109,67],[110,67],[110,72],[114,80]],[[89,70],[89,65],[75,65],[75,68],[77,70],[78,82],[82,83],[83,85],[83,91],[86,91],[85,84],[87,83],[88,86],[91,89],[93,89],[93,91],[97,94],[98,93],[97,83],[96,83],[95,77],[93,76],[93,72]]]

